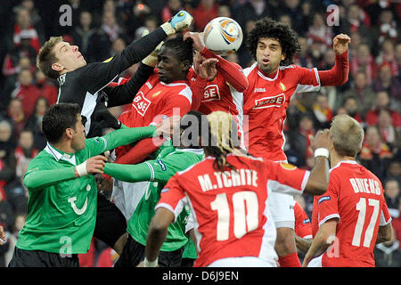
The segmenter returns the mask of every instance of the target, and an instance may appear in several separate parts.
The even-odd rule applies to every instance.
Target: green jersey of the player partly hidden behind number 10
[[[134,240],[146,245],[146,236],[154,216],[154,208],[160,199],[160,191],[168,179],[176,172],[191,167],[204,158],[201,149],[171,149],[160,151],[157,159],[148,160],[138,165],[128,166],[106,163],[104,173],[121,181],[138,182],[149,181],[134,214],[128,221],[127,232]],[[161,251],[174,251],[182,248],[188,241],[185,236],[185,224],[190,214],[189,208],[178,216],[176,223],[168,227],[168,235],[161,246]]]

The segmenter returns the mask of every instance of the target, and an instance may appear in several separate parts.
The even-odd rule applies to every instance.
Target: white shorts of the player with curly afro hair
[[[272,214],[275,228],[295,228],[295,199],[288,194],[271,191],[267,206]]]

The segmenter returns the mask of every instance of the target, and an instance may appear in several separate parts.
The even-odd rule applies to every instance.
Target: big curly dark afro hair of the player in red
[[[258,40],[262,37],[274,38],[282,45],[282,53],[285,54],[285,59],[280,62],[282,66],[290,65],[295,53],[300,50],[298,34],[291,27],[266,17],[256,22],[247,37],[246,45],[255,60]]]

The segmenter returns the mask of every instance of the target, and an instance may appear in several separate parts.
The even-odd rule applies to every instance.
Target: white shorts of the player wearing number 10
[[[275,260],[266,261],[256,256],[239,256],[218,259],[208,267],[277,267]]]

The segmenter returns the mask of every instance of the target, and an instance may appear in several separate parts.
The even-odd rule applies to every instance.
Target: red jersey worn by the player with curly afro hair
[[[283,126],[291,96],[318,91],[318,71],[289,65],[279,67],[272,77],[267,77],[257,63],[243,71],[249,82],[243,94],[243,114],[249,120],[248,129],[244,124],[244,134],[249,140],[245,146],[254,157],[286,160]]]

